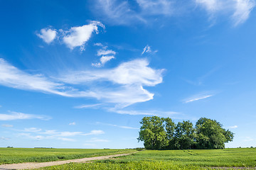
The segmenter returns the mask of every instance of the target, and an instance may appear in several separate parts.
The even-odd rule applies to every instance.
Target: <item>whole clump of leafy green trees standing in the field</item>
[[[193,126],[189,120],[174,123],[171,118],[144,117],[138,141],[146,149],[224,149],[234,133],[216,120],[200,118]]]

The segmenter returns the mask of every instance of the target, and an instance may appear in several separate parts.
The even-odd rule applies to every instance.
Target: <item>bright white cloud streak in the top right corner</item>
[[[233,13],[234,25],[244,23],[250,16],[250,12],[255,7],[255,0],[235,0],[235,13]]]

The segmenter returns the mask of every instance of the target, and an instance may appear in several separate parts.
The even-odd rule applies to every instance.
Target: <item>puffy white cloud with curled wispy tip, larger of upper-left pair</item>
[[[98,33],[99,26],[105,28],[105,26],[98,21],[92,21],[85,26],[72,27],[70,30],[63,31],[63,42],[71,50],[73,50],[74,47],[80,47],[82,51],[85,49],[85,42],[90,39],[92,33]]]

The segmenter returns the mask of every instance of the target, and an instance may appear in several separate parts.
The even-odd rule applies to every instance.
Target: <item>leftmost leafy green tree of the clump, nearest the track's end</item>
[[[146,149],[164,149],[168,145],[166,131],[164,130],[164,118],[158,116],[144,117],[140,122],[138,141],[144,141]]]

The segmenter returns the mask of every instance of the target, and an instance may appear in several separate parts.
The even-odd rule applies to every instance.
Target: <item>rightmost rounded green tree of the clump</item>
[[[196,145],[198,149],[224,149],[225,142],[233,140],[234,134],[225,130],[216,120],[200,118],[196,122]]]

